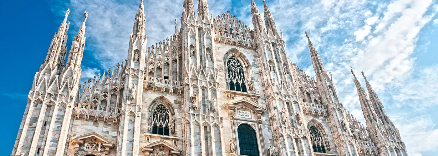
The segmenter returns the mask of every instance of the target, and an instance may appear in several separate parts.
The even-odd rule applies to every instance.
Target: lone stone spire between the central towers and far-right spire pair
[[[327,76],[324,64],[322,63],[321,57],[319,56],[318,52],[313,46],[313,43],[310,41],[309,35],[307,35],[307,31],[304,31],[306,33],[307,42],[309,42],[309,49],[310,49],[310,57],[313,64],[313,69],[315,70],[316,76],[318,78],[321,78],[321,80],[325,80],[325,77]]]

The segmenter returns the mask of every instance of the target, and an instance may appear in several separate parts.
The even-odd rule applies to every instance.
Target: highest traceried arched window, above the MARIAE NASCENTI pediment
[[[247,87],[245,84],[245,72],[244,66],[235,57],[230,57],[226,63],[228,69],[228,79],[230,90],[247,92]]]

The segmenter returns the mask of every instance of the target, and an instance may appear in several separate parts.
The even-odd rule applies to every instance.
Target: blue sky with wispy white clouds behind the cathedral
[[[145,0],[148,46],[173,35],[183,0]],[[197,0],[195,9],[197,9]],[[70,47],[88,11],[85,81],[127,57],[140,0],[1,0],[0,155],[11,154],[31,89],[51,39],[70,8]],[[255,0],[263,15],[262,0]],[[362,123],[350,68],[381,98],[410,156],[438,153],[438,4],[436,0],[266,0],[283,31],[289,59],[314,76],[304,31],[332,73],[344,107]],[[210,14],[230,10],[252,28],[251,0],[208,0]],[[359,74],[360,75],[360,74]],[[364,80],[358,77],[364,87]],[[5,128],[6,127],[6,128]]]

